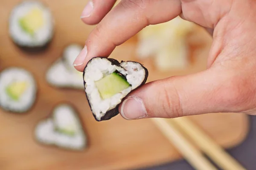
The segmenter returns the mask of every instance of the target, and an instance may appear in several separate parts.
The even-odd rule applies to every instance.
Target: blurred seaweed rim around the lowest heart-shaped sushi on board
[[[84,136],[86,138],[86,145],[84,147],[82,147],[81,149],[72,149],[72,148],[69,148],[69,147],[60,147],[56,144],[46,144],[46,143],[40,141],[39,139],[37,139],[37,137],[36,137],[35,129],[37,128],[38,124],[41,123],[41,122],[46,121],[47,119],[53,119],[53,111],[55,110],[55,108],[57,108],[58,106],[61,106],[61,105],[71,106],[73,111],[76,113],[75,116],[78,118],[78,120],[80,122],[80,125],[81,125],[81,128],[82,128],[82,131],[83,131]],[[61,101],[61,102],[58,102],[57,104],[53,105],[52,109],[50,110],[49,115],[45,116],[44,118],[42,118],[38,122],[36,122],[33,129],[34,130],[33,130],[33,135],[32,136],[33,136],[34,141],[36,143],[38,143],[39,145],[44,146],[44,147],[56,148],[56,149],[65,150],[65,151],[68,151],[68,152],[84,152],[84,151],[87,151],[90,147],[89,133],[86,130],[86,128],[84,127],[84,122],[81,121],[81,115],[80,115],[78,109],[71,102],[68,102],[68,101]]]

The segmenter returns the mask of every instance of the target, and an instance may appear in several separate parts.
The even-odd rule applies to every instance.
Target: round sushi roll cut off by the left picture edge
[[[37,86],[23,68],[7,68],[0,73],[0,106],[14,113],[28,111],[35,102]]]

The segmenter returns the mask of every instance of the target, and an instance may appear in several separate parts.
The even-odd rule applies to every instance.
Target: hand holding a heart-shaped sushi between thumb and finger
[[[74,62],[77,70],[92,57],[109,56],[144,27],[178,15],[213,37],[207,70],[143,85],[120,105],[125,119],[256,113],[256,1],[122,0],[111,10],[114,3],[93,0],[82,12],[84,23],[99,24]]]

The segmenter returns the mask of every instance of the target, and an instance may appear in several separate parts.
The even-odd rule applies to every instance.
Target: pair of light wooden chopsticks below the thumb
[[[221,146],[216,144],[190,119],[180,117],[175,119],[152,118],[155,125],[161,130],[164,136],[180,151],[183,157],[196,170],[217,170],[217,168],[204,157],[203,152],[223,170],[246,170]],[[179,130],[182,130],[194,145],[184,137]]]

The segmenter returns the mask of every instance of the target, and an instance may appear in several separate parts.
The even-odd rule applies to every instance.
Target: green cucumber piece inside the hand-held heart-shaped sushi
[[[96,81],[95,85],[102,99],[110,98],[131,86],[125,77],[115,72]]]

